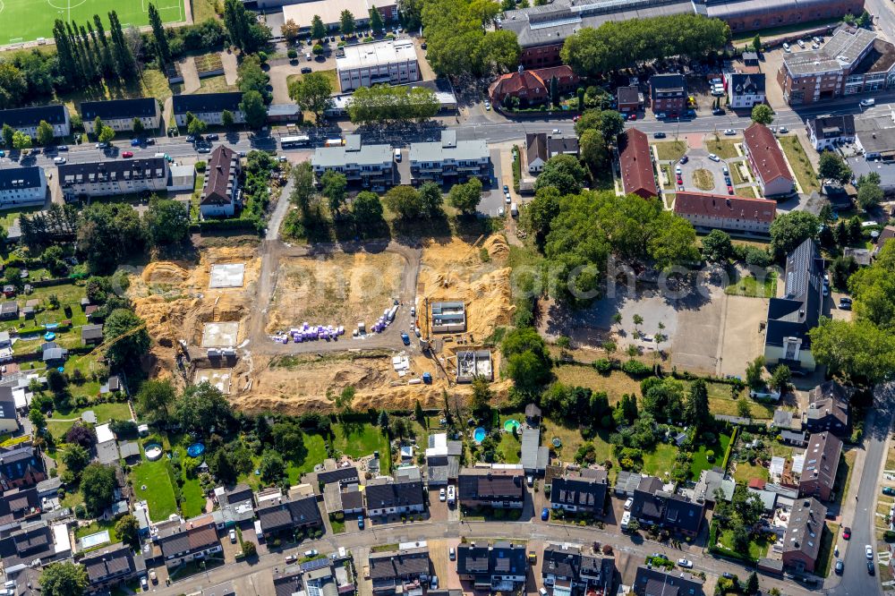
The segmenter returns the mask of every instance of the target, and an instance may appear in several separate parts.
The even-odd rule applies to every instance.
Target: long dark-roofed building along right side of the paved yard
[[[783,345],[784,337],[799,337],[802,349],[810,348],[808,331],[817,327],[823,300],[823,259],[810,238],[798,245],[786,260],[784,296],[768,303],[765,343]]]

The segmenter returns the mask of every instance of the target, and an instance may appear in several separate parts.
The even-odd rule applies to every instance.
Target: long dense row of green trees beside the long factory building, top
[[[674,14],[585,27],[566,38],[559,55],[579,75],[601,77],[671,56],[699,58],[720,50],[729,40],[730,28],[724,21]]]

